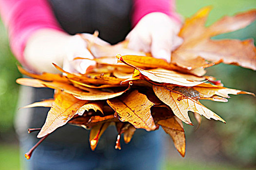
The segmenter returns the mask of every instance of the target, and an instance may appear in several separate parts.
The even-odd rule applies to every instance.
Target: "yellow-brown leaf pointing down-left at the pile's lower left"
[[[88,101],[81,101],[73,97],[73,95],[58,91],[55,101],[47,114],[45,123],[37,135],[38,138],[46,136],[58,127],[65,125],[73,118],[76,111]]]

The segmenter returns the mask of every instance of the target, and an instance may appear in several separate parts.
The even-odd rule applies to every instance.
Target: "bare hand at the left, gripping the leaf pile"
[[[91,34],[83,34],[87,39],[96,38],[95,43],[108,44]],[[93,59],[90,51],[86,49],[87,43],[79,35],[69,35],[64,32],[43,29],[33,34],[25,47],[24,59],[36,72],[53,72],[57,70],[52,63],[63,67],[69,72],[84,74],[95,62],[91,60],[73,60],[75,57]]]

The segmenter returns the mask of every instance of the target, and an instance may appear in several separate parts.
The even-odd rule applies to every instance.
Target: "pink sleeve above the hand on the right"
[[[152,12],[161,12],[181,22],[179,15],[175,12],[175,0],[133,0],[132,27],[139,20]]]

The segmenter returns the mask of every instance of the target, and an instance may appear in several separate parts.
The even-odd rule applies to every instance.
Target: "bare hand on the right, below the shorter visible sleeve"
[[[151,52],[153,57],[171,61],[171,51],[179,47],[183,39],[178,37],[180,24],[163,13],[154,12],[143,17],[127,35],[128,48]]]

